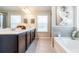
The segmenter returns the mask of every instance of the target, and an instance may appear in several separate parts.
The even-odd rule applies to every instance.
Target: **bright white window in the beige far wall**
[[[37,32],[47,32],[48,31],[48,16],[40,15],[37,16]]]

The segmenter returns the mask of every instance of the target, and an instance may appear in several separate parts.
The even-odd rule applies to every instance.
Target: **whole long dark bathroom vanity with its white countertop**
[[[35,28],[22,31],[0,31],[0,53],[23,53],[35,38]]]

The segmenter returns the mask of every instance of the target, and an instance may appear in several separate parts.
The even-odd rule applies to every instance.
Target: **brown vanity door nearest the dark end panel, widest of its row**
[[[25,52],[25,33],[19,35],[19,52]]]

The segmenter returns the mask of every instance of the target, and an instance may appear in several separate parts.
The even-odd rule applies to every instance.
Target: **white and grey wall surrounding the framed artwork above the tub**
[[[75,7],[73,7],[73,25],[72,26],[57,26],[56,25],[56,7],[52,7],[52,35],[62,37],[71,37],[72,32],[76,29],[76,13]]]

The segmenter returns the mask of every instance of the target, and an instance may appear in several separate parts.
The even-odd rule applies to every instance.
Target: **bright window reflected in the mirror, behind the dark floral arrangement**
[[[21,23],[20,15],[11,15],[11,28],[16,28],[17,24]]]

